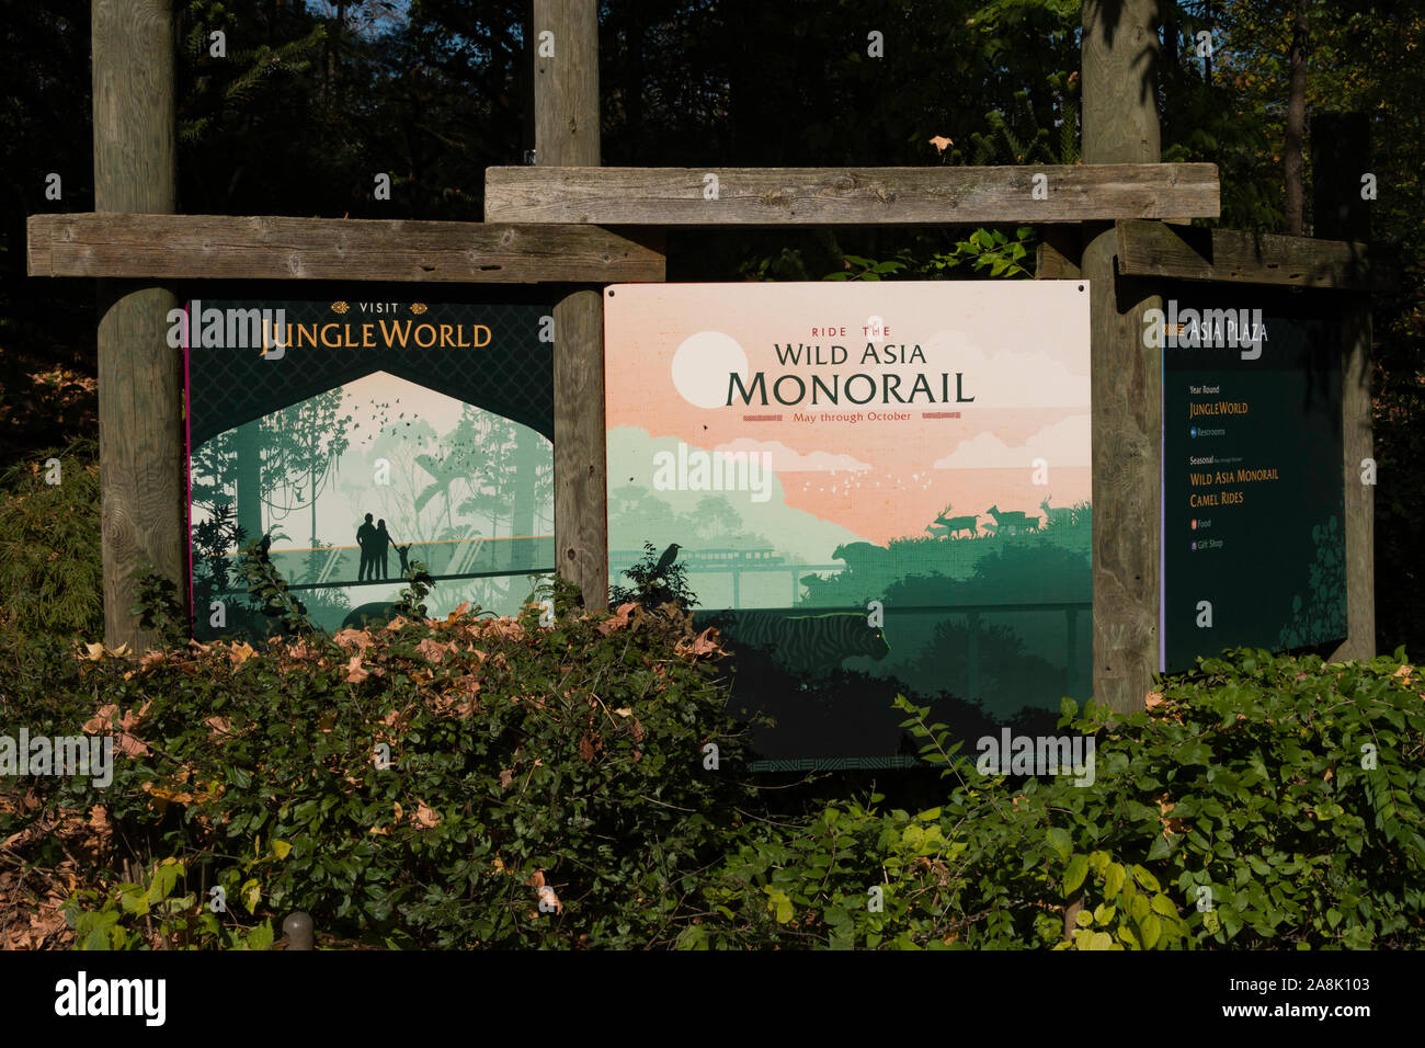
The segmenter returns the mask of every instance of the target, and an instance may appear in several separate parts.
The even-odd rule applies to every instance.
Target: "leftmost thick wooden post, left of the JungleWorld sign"
[[[171,0],[94,0],[94,210],[172,214],[177,204]],[[170,287],[98,281],[98,445],[104,643],[157,637],[130,615],[135,572],[184,577],[180,355]]]

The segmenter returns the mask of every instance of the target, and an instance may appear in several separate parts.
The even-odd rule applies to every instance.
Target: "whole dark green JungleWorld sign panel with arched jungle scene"
[[[362,294],[370,294],[362,289]],[[192,301],[194,632],[262,633],[238,550],[328,630],[385,620],[422,562],[430,615],[516,613],[553,570],[550,304]]]

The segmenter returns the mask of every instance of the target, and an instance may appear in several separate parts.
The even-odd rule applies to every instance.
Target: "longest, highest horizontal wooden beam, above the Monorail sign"
[[[1217,214],[1216,164],[484,171],[489,222],[979,225]]]

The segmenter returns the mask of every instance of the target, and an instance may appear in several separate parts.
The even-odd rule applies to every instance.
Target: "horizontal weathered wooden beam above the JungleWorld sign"
[[[261,215],[30,215],[31,277],[617,284],[664,279],[648,235],[586,225]]]

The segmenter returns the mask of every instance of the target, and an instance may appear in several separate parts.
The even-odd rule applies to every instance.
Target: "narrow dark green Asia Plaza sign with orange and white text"
[[[1163,666],[1344,640],[1340,319],[1301,292],[1164,299]]]

